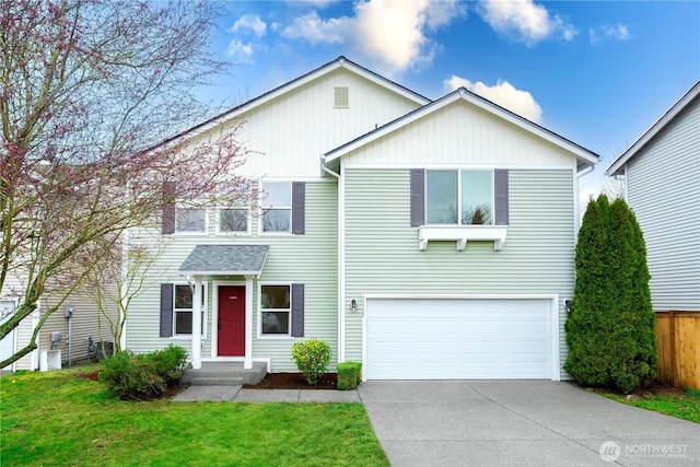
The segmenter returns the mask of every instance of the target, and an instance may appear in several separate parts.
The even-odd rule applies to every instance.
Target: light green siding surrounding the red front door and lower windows
[[[260,235],[258,219],[253,217],[252,235],[215,235],[215,217],[209,212],[207,235],[155,235],[165,238],[167,248],[149,277],[149,289],[137,297],[129,311],[127,348],[148,352],[175,343],[191,351],[188,337],[161,338],[160,283],[185,280],[177,269],[199,244],[269,245],[269,253],[260,281],[298,282],[305,284],[305,338],[316,337],[330,343],[334,352],[332,367],[338,354],[338,207],[335,180],[306,183],[306,229],[303,235]],[[136,242],[132,235],[132,242]],[[206,311],[206,337],[202,339],[202,359],[212,355],[213,281],[244,283],[243,277],[206,277],[208,303]],[[291,360],[294,338],[258,338],[259,284],[253,282],[253,359],[270,359],[273,372],[296,371]]]

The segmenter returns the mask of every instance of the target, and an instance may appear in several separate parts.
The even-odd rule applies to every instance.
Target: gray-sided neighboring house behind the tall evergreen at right
[[[700,82],[606,174],[644,232],[654,311],[700,311]]]

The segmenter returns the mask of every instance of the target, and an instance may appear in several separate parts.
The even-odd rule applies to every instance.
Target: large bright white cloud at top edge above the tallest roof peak
[[[322,19],[316,11],[298,16],[282,35],[312,44],[348,44],[392,74],[430,62],[436,45],[428,33],[465,11],[454,0],[369,0],[354,4],[354,16]]]

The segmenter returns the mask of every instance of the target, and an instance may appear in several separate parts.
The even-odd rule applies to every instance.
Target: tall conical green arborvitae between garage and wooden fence
[[[627,203],[588,202],[576,244],[564,369],[578,381],[630,393],[656,374],[646,247]]]

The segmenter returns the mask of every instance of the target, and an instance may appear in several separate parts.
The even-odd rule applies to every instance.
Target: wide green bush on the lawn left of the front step
[[[120,399],[152,399],[179,382],[186,359],[187,351],[172,345],[143,354],[126,350],[105,361],[100,381]]]

